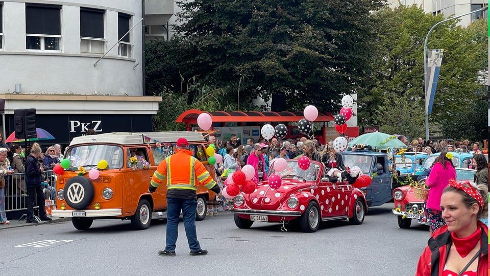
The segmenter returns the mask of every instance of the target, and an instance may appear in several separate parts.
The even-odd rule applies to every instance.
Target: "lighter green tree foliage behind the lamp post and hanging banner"
[[[369,89],[358,95],[359,124],[381,125],[388,132],[411,137],[425,134],[424,40],[442,15],[426,14],[416,6],[384,8],[375,14],[379,27],[377,68]],[[484,21],[484,20],[481,20]],[[442,122],[457,120],[459,114],[475,108],[479,70],[487,67],[487,37],[477,21],[468,28],[456,26],[456,20],[438,25],[428,38],[428,49],[444,49],[432,114],[431,134],[442,130],[446,137],[456,133],[440,128]],[[411,118],[410,120],[407,120]],[[476,121],[467,121],[477,124]],[[479,129],[476,125],[471,129]],[[464,130],[462,130],[464,131]],[[470,128],[463,136],[470,136]],[[471,134],[471,135],[474,135]]]

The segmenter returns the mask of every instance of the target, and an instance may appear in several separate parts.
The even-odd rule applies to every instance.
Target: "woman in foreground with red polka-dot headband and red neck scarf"
[[[440,198],[446,225],[438,228],[420,256],[415,276],[488,273],[488,227],[479,219],[488,212],[488,192],[453,178]]]

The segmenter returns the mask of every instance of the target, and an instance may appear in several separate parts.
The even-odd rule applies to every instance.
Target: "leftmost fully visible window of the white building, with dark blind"
[[[60,51],[61,6],[26,4],[26,49]]]

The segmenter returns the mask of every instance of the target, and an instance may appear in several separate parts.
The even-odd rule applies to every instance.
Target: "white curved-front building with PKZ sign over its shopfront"
[[[57,133],[51,143],[69,143],[92,121],[97,132],[151,131],[161,97],[144,96],[143,18],[160,26],[172,14],[172,0],[0,0],[5,134],[25,108]]]

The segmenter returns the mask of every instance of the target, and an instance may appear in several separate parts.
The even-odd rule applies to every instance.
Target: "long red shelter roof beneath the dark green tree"
[[[190,109],[177,118],[177,123],[197,124],[199,114],[206,112],[198,109]],[[214,111],[206,112],[211,116],[213,123],[220,122],[298,122],[299,120],[305,118],[303,112],[273,112],[273,111]],[[314,121],[318,122],[328,122],[333,121],[333,116],[330,113],[318,112],[318,117]]]

